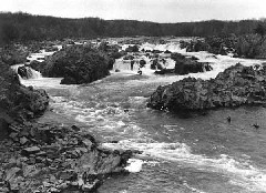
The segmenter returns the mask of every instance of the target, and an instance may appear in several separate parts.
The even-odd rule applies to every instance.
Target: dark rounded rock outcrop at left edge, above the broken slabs
[[[24,87],[8,64],[0,61],[0,111],[16,120],[28,120],[43,113],[49,104],[44,90]]]

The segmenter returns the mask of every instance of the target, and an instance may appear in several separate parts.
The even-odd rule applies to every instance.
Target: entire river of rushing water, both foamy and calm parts
[[[174,42],[142,47],[185,53]],[[262,62],[206,52],[185,54],[212,62],[213,71],[190,74],[202,79],[215,78],[236,62]],[[86,85],[60,85],[60,79],[21,80],[25,85],[45,89],[51,96],[51,110],[40,122],[76,124],[103,141],[105,148],[143,152],[130,160],[130,174],[106,180],[100,193],[266,192],[264,108],[180,118],[147,109],[146,100],[158,85],[188,75],[154,75],[147,67],[143,75],[137,75],[137,69],[131,71],[121,60],[115,68],[121,71]],[[228,115],[231,123],[226,121]],[[260,128],[254,129],[254,123]]]

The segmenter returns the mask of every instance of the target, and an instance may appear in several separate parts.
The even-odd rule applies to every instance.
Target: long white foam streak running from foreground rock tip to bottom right
[[[248,191],[266,191],[266,171],[253,166],[248,160],[236,161],[225,154],[216,159],[193,154],[191,148],[185,143],[143,143],[135,140],[124,140],[116,144],[104,143],[103,145],[110,149],[142,151],[142,155],[137,158],[143,156],[143,160],[150,156],[178,162],[185,166],[190,165],[200,170],[223,173],[232,179],[232,183],[242,185]]]

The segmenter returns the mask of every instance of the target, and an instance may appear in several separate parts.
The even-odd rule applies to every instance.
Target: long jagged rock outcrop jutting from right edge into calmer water
[[[186,78],[158,87],[147,106],[175,112],[266,103],[266,68],[236,64],[215,79]]]

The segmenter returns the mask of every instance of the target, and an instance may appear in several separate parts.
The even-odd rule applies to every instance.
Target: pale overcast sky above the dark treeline
[[[266,18],[266,0],[0,0],[0,11],[154,22]]]

